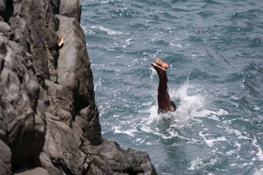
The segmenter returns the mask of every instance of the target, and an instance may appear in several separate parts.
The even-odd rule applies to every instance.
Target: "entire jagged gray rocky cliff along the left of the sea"
[[[157,175],[101,137],[80,15],[79,0],[0,0],[0,175]]]

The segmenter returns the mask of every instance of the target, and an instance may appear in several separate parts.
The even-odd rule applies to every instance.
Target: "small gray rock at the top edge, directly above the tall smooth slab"
[[[57,0],[57,14],[75,18],[80,22],[81,4],[79,0]]]

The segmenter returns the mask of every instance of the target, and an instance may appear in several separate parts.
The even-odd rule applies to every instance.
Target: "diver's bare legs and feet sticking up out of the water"
[[[157,59],[156,64],[150,63],[159,75],[158,108],[161,113],[166,113],[168,111],[173,112],[174,109],[170,104],[171,100],[169,93],[167,91],[168,77],[166,74],[166,69],[168,69],[168,65],[163,63],[162,61],[161,61],[162,64],[160,64],[160,61],[161,61],[160,59]]]

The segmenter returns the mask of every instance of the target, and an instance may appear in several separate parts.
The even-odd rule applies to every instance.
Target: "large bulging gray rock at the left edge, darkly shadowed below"
[[[30,59],[19,45],[0,36],[0,139],[12,150],[14,170],[38,166],[44,145],[45,116],[37,108],[39,86],[26,67],[31,68]]]

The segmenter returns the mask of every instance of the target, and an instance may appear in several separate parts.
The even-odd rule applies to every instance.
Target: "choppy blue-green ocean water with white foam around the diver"
[[[102,136],[159,175],[263,175],[262,0],[81,0]],[[157,114],[169,64],[177,111]]]

